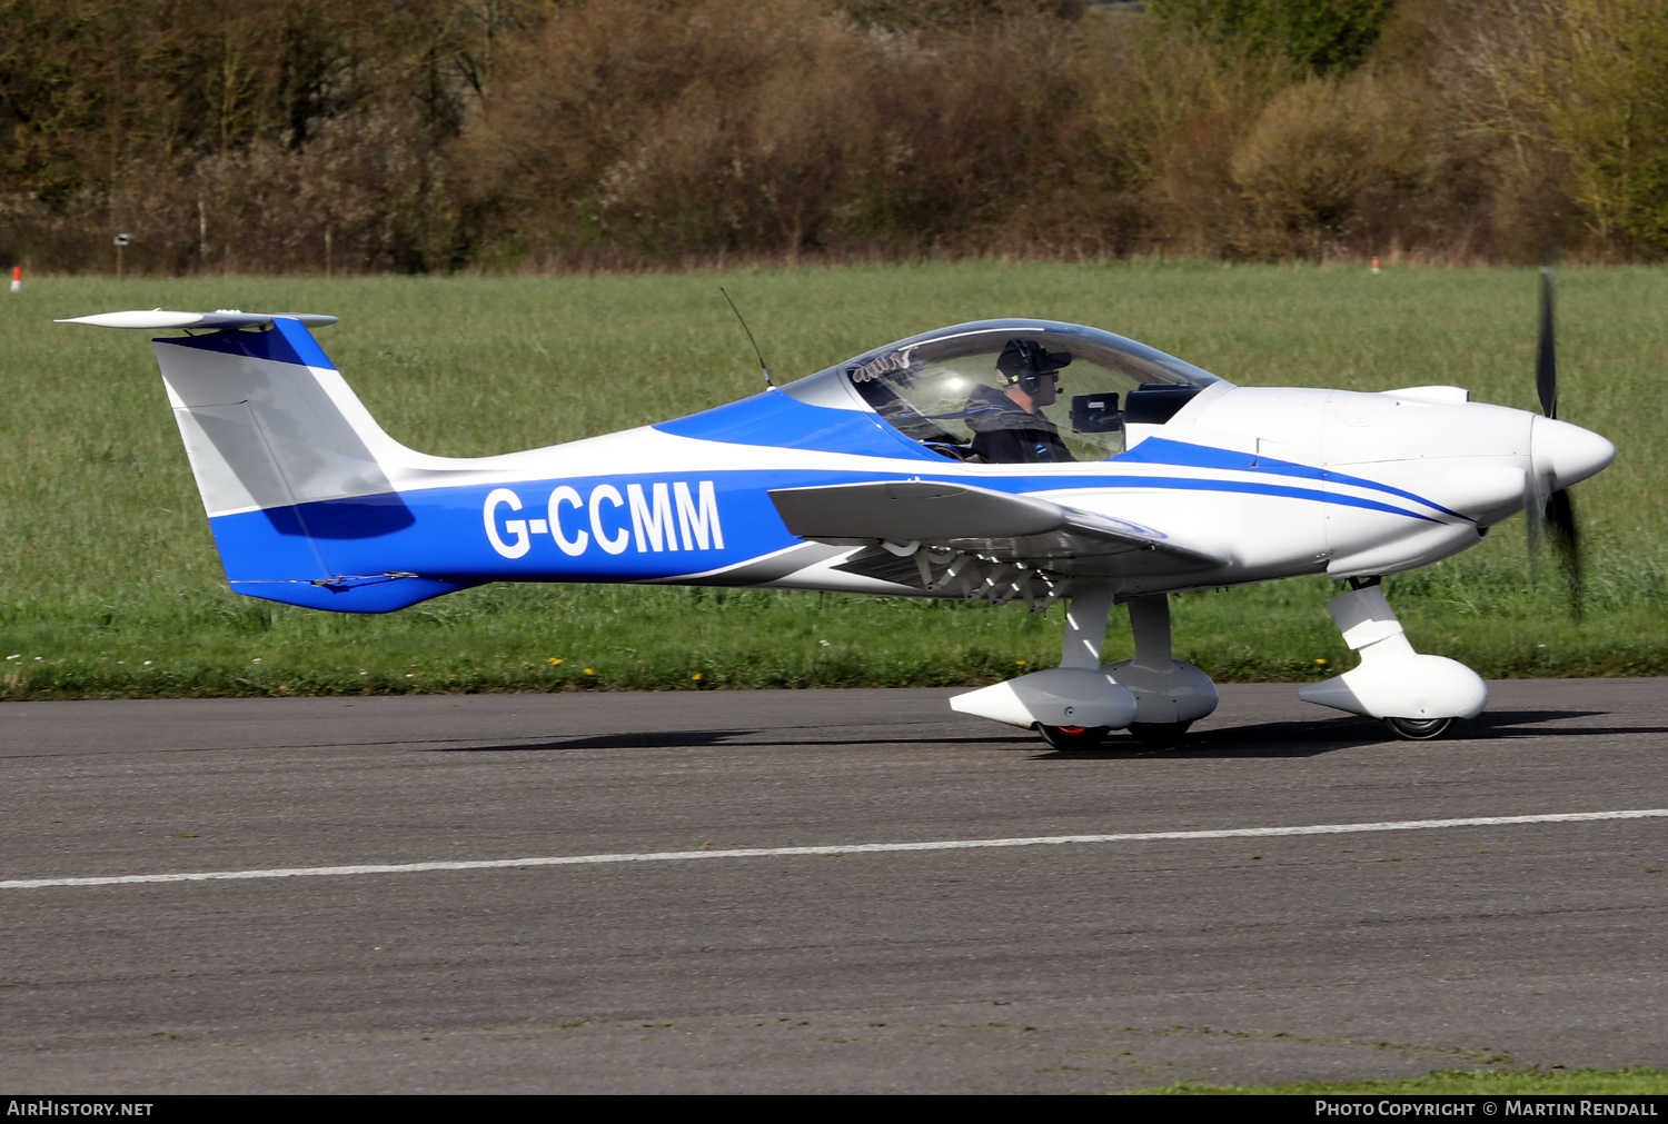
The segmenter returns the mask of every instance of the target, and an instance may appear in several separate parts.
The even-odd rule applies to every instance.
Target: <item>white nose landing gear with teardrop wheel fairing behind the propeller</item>
[[[1351,579],[1349,592],[1326,602],[1326,612],[1361,664],[1304,685],[1298,690],[1304,702],[1383,719],[1396,737],[1414,742],[1441,737],[1454,719],[1483,712],[1483,679],[1458,660],[1414,652],[1376,577]]]

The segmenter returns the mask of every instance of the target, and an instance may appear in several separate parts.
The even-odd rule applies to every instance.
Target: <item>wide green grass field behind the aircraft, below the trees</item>
[[[387,430],[482,455],[664,420],[979,317],[1136,337],[1246,385],[1446,382],[1533,409],[1533,270],[876,265],[564,278],[30,278],[0,299],[0,697],[977,684],[1051,665],[1059,610],[786,592],[510,587],[387,617],[235,597],[145,335],[113,309],[332,312],[319,332]],[[1620,449],[1576,490],[1586,615],[1513,520],[1386,582],[1414,645],[1485,675],[1668,674],[1668,272],[1561,275],[1561,412]],[[1178,655],[1223,680],[1348,665],[1324,579],[1176,599]],[[1128,625],[1108,657],[1131,644]],[[1324,662],[1323,662],[1324,660]]]

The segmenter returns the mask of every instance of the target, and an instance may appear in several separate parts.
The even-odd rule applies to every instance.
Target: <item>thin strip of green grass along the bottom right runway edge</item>
[[[1166,1086],[1143,1094],[1288,1094],[1288,1096],[1630,1096],[1668,1092],[1668,1069],[1555,1069],[1500,1072],[1441,1069],[1399,1081],[1293,1081],[1279,1086]]]

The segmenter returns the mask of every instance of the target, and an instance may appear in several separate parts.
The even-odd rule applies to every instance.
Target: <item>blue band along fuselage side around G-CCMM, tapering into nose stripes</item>
[[[389,612],[480,582],[644,582],[737,565],[799,542],[769,490],[901,479],[911,477],[819,470],[599,475],[325,500],[210,522],[239,592],[315,609]],[[946,482],[1021,494],[1238,492],[1436,522],[1364,497],[1258,480],[1051,474]],[[552,497],[559,497],[554,505]],[[489,515],[499,549],[487,534]],[[569,554],[559,537],[579,549]],[[382,577],[390,572],[422,577]]]

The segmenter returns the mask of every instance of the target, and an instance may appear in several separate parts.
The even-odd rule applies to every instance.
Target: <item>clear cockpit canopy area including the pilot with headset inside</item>
[[[822,375],[836,372],[906,435],[939,455],[984,464],[1114,457],[1124,449],[1131,394],[1163,395],[1174,414],[1221,382],[1144,344],[1051,320],[941,329]]]

